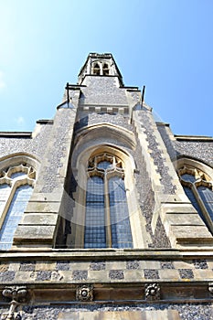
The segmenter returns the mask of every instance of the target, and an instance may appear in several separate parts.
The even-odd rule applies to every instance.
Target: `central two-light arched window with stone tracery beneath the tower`
[[[88,165],[84,248],[133,248],[122,161],[93,156]]]

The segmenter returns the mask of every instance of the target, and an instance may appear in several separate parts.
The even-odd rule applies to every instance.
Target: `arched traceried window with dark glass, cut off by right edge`
[[[190,165],[181,167],[178,175],[186,196],[197,209],[208,229],[213,232],[213,187],[210,176]]]

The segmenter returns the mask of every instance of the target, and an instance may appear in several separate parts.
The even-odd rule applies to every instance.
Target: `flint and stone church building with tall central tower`
[[[0,211],[2,320],[213,319],[213,138],[156,121],[112,54],[0,132]]]

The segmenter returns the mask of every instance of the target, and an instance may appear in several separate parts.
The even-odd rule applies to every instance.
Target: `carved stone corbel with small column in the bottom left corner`
[[[5,287],[2,294],[11,299],[8,313],[1,315],[1,320],[21,320],[21,315],[16,312],[16,307],[24,302],[27,295],[26,286],[8,286]]]

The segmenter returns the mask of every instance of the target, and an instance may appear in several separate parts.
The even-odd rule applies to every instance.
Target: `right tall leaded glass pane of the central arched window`
[[[109,180],[112,248],[133,248],[124,182],[121,177]]]

